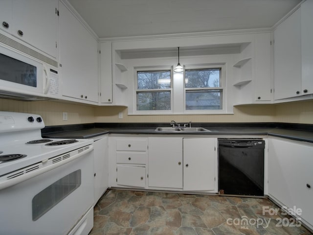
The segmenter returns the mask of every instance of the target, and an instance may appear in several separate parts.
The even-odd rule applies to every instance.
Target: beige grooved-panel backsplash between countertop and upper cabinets
[[[56,101],[17,101],[0,99],[0,111],[41,115],[46,126],[93,122],[290,122],[313,124],[313,100],[272,105],[235,106],[234,115],[153,115],[128,116],[119,106],[87,106]],[[67,112],[67,121],[62,113]],[[118,118],[118,113],[123,118]]]

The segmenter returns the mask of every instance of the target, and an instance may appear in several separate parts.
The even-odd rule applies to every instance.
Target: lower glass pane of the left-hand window
[[[138,92],[137,110],[171,110],[171,92]]]

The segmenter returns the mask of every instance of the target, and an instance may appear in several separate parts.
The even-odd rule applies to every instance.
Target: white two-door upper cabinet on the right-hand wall
[[[312,12],[305,1],[274,31],[275,100],[313,94]]]

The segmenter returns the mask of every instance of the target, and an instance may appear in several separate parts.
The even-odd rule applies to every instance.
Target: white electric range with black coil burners
[[[40,115],[0,112],[0,234],[93,226],[93,141],[43,139],[44,127]]]

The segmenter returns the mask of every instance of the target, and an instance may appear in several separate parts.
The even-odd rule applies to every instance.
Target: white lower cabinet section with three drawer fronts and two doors
[[[110,137],[110,187],[217,193],[217,138]]]

